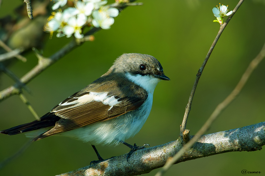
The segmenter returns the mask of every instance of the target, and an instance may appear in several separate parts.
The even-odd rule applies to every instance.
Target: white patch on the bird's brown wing
[[[84,104],[89,104],[90,102],[97,101],[102,102],[102,104],[109,105],[110,109],[119,104],[118,99],[115,96],[108,96],[108,92],[89,92],[89,94],[82,95],[81,97],[73,97],[72,99],[60,103],[52,112],[61,111],[64,109],[74,108]],[[65,106],[65,107],[63,107]],[[89,106],[89,105],[88,105]]]

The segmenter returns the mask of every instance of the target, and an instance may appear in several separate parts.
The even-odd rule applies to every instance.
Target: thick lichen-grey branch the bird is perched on
[[[178,153],[182,148],[180,141],[178,139],[163,145],[138,150],[132,153],[129,163],[126,161],[127,154],[124,154],[58,176],[129,176],[148,173],[162,167],[168,159]],[[177,163],[226,152],[261,150],[263,145],[265,145],[265,122],[203,135],[192,148],[180,157]]]

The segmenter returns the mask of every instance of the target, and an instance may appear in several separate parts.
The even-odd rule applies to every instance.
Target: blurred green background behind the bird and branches
[[[113,1],[109,1],[113,2]],[[143,0],[143,6],[125,9],[110,30],[95,34],[95,41],[75,48],[42,72],[25,92],[42,116],[74,92],[104,74],[123,53],[142,53],[156,57],[171,81],[161,81],[155,89],[153,108],[140,132],[126,142],[150,146],[174,141],[188,102],[196,73],[220,27],[213,23],[212,8],[220,2],[233,10],[238,1],[158,1]],[[21,0],[4,0],[0,17],[14,15]],[[194,135],[215,107],[236,86],[249,62],[265,42],[264,1],[245,1],[219,39],[198,84],[187,128]],[[33,9],[34,10],[34,9]],[[226,19],[226,18],[225,18]],[[72,38],[46,40],[44,56],[49,57]],[[21,77],[37,64],[32,52],[28,61],[11,65]],[[225,131],[264,121],[265,61],[251,75],[235,101],[218,117],[207,133]],[[0,89],[14,82],[2,74]],[[34,120],[18,96],[0,103],[0,129]],[[0,135],[0,162],[29,141],[24,134]],[[124,145],[96,146],[103,158],[129,151]],[[165,175],[241,175],[241,170],[265,172],[263,150],[231,152],[174,165]],[[91,145],[66,137],[49,137],[34,142],[27,150],[0,170],[0,175],[57,175],[89,165],[97,156]],[[192,168],[192,169],[191,169]],[[154,175],[157,170],[145,175]]]

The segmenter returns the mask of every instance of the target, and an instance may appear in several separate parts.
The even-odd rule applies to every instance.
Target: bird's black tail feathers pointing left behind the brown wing
[[[27,131],[33,131],[33,130],[38,130],[41,128],[46,128],[46,127],[52,127],[55,125],[57,121],[59,121],[61,118],[56,116],[54,113],[47,113],[44,116],[40,118],[41,120],[35,120],[29,123],[25,123],[19,126],[15,126],[6,130],[0,131],[2,134],[7,134],[7,135],[15,135],[19,133],[24,133]]]

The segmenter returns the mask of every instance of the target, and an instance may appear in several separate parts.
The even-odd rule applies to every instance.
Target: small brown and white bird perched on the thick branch
[[[38,141],[48,136],[68,136],[95,145],[120,144],[133,151],[144,148],[124,142],[137,134],[148,118],[153,93],[160,80],[170,80],[155,57],[123,54],[110,69],[84,89],[71,95],[50,112],[23,125],[0,133],[14,135],[27,132]]]

